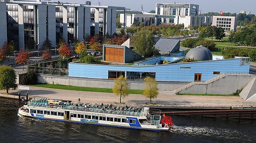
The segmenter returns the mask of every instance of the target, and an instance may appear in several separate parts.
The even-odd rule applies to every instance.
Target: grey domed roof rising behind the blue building
[[[209,61],[212,60],[212,53],[209,49],[199,46],[189,50],[186,58],[194,58],[195,61]]]

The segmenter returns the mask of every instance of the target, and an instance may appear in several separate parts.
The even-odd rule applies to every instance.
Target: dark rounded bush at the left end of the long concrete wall
[[[35,71],[29,70],[27,73],[22,74],[20,78],[20,84],[33,85],[37,83],[37,75]]]

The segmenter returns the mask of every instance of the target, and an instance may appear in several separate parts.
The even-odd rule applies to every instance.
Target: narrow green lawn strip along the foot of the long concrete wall
[[[112,89],[110,89],[110,88],[78,87],[78,86],[52,85],[52,84],[37,84],[37,85],[31,85],[31,86],[55,88],[55,89],[66,89],[66,90],[71,90],[71,91],[113,93]],[[129,94],[143,94],[143,90],[129,89],[128,93]]]

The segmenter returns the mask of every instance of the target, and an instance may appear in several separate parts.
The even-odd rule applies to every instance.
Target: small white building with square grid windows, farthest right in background
[[[212,26],[222,27],[224,31],[237,31],[237,17],[213,16]]]

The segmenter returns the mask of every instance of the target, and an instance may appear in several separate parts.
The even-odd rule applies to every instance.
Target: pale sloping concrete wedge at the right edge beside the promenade
[[[240,97],[246,101],[256,101],[256,77],[245,86]]]

